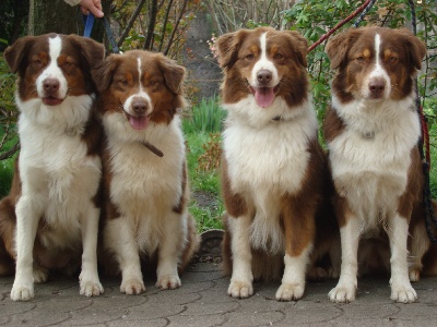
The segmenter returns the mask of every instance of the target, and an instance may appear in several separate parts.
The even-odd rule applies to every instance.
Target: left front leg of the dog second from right
[[[249,298],[253,294],[252,254],[249,235],[250,217],[229,217],[227,221],[231,230],[233,256],[233,274],[227,294],[239,299]]]

